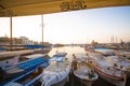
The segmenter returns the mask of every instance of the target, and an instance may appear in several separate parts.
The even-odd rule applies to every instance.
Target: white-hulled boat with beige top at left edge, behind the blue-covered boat
[[[0,68],[6,70],[18,63],[23,55],[34,54],[34,51],[0,52]]]

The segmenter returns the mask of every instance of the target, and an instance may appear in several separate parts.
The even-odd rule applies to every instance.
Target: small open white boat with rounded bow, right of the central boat
[[[99,75],[88,67],[83,58],[75,58],[72,67],[75,67],[74,75],[86,86],[91,86],[99,78]]]

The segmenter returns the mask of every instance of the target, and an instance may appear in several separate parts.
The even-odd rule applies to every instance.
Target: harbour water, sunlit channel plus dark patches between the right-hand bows
[[[69,60],[72,60],[72,55],[76,54],[76,55],[84,55],[86,51],[83,47],[80,46],[65,46],[65,47],[58,47],[58,48],[52,48],[52,51],[49,53],[49,56],[54,55],[56,52],[66,52],[67,53],[67,58]],[[128,77],[127,84],[126,86],[130,86],[130,78]],[[69,74],[69,82],[66,83],[65,86],[84,86],[83,84],[81,84],[72,73]],[[105,80],[99,77],[98,81],[95,81],[92,86],[115,86],[108,82],[106,82]]]

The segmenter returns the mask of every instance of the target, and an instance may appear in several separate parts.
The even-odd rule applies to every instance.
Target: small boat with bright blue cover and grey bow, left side
[[[30,58],[34,57],[34,58]],[[34,70],[35,68],[37,68],[40,64],[43,64],[43,67],[48,67],[49,66],[49,60],[47,58],[43,58],[42,55],[30,55],[28,56],[28,60],[24,60],[18,62],[15,66],[12,66],[10,68],[8,68],[5,71],[5,78],[8,77],[14,77],[16,75],[20,75],[24,72],[28,72]]]

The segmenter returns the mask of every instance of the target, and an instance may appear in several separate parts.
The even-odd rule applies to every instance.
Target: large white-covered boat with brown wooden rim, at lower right
[[[116,86],[126,86],[127,74],[123,69],[116,69],[116,64],[108,62],[104,56],[91,54],[89,55],[88,63],[100,77]]]

